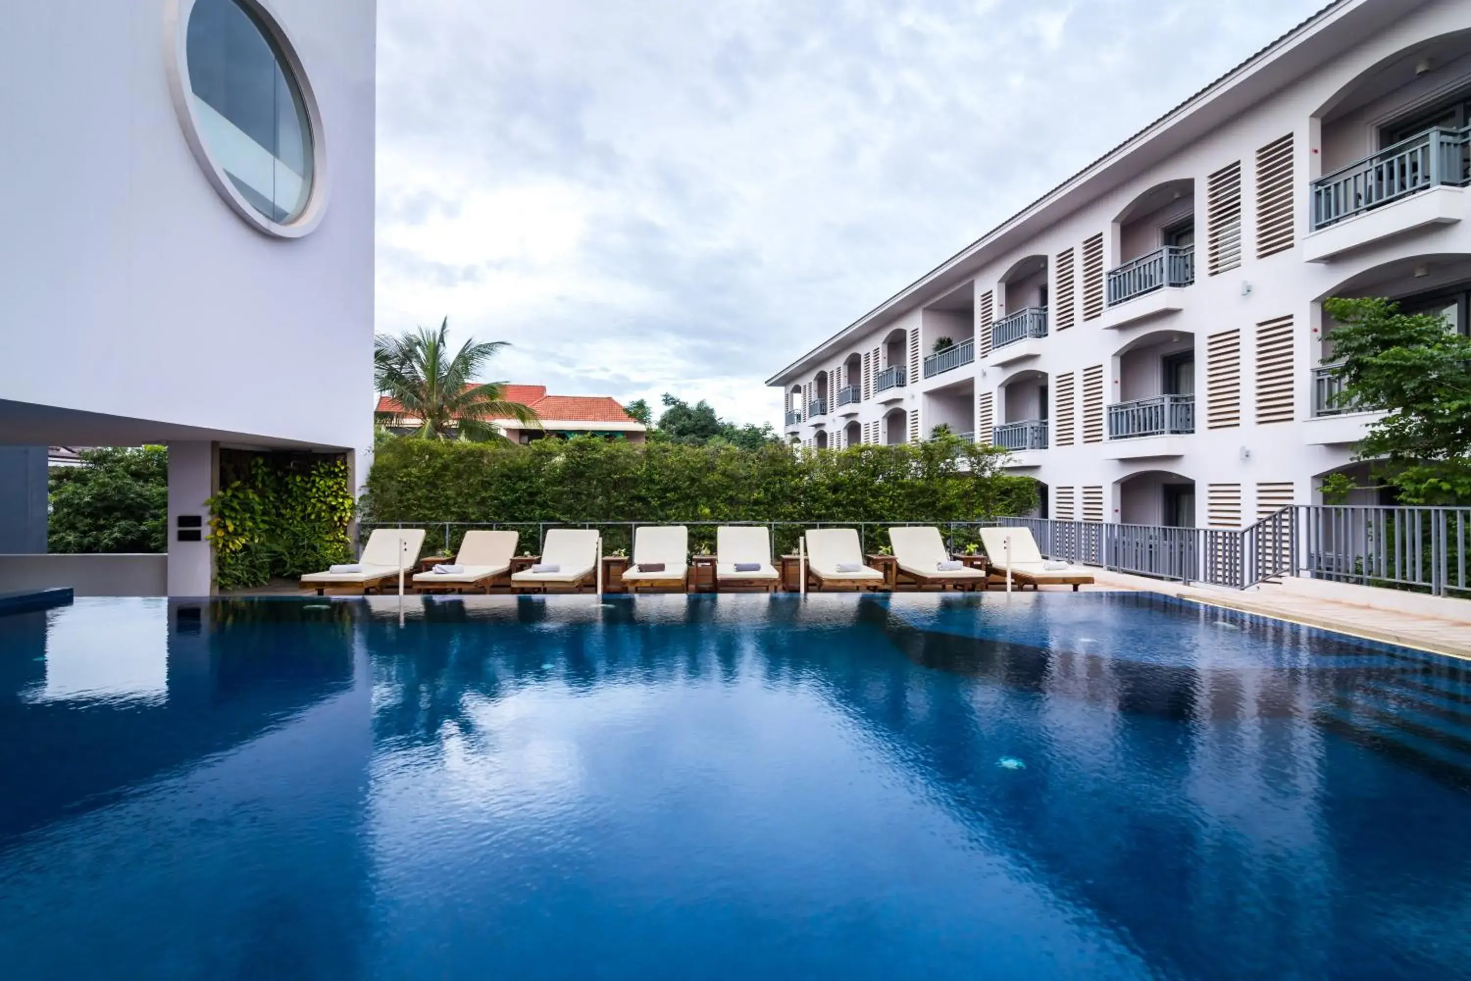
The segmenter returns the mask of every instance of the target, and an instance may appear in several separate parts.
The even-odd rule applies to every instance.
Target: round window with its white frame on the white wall
[[[291,46],[259,0],[179,7],[175,97],[190,143],[235,210],[265,231],[304,234],[321,212],[321,137]]]

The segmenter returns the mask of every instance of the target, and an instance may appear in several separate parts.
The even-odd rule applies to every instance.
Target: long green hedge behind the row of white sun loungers
[[[1002,472],[1003,457],[953,437],[816,452],[391,438],[378,446],[362,516],[368,524],[977,521],[1036,506],[1036,481]]]

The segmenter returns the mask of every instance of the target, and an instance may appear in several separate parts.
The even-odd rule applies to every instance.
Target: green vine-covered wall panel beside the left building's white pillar
[[[219,588],[265,585],[352,559],[355,502],[344,459],[221,450],[219,484],[209,500]]]

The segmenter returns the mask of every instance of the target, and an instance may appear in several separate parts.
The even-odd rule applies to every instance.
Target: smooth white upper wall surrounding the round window
[[[241,221],[196,160],[169,93],[165,6],[6,9],[0,400],[46,407],[26,424],[69,421],[78,435],[87,421],[68,412],[157,424],[160,441],[188,427],[365,450],[375,3],[265,3],[324,116],[328,203],[300,240]]]

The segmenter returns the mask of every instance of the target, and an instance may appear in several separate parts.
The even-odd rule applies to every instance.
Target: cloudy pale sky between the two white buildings
[[[378,329],[780,422],[769,374],[1322,1],[380,0]]]

